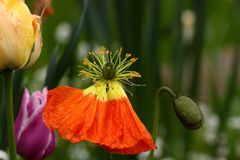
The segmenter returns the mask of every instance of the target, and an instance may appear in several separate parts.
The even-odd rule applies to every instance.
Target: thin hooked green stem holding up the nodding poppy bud
[[[153,120],[153,131],[152,137],[154,142],[156,142],[157,134],[158,134],[158,120],[159,120],[159,113],[160,113],[160,95],[162,92],[166,92],[172,98],[177,98],[177,95],[168,87],[161,87],[158,89],[156,94],[156,102],[155,102],[155,109],[154,109],[154,120]],[[153,160],[154,150],[151,150],[149,155],[149,160]]]

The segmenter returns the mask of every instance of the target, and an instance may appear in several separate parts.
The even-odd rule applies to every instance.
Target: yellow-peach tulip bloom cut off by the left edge
[[[35,63],[42,48],[40,25],[24,0],[0,0],[0,71]]]

